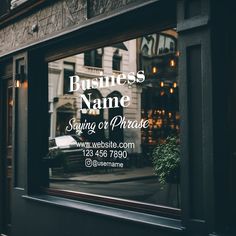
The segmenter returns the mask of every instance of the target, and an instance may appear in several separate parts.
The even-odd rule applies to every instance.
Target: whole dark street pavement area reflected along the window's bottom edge
[[[176,185],[161,185],[152,167],[54,175],[50,187],[177,207]]]

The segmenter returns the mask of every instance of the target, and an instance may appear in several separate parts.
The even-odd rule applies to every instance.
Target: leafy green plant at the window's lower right
[[[179,184],[180,144],[177,136],[168,136],[153,150],[154,172],[161,184]]]

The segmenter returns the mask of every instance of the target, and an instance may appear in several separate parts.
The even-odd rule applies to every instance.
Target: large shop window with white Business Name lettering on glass
[[[74,55],[66,96],[49,70],[50,188],[180,207],[176,42],[170,29]]]

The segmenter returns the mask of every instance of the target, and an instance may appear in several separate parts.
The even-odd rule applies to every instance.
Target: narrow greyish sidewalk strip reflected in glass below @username
[[[90,183],[114,183],[114,182],[125,182],[137,179],[154,178],[154,171],[152,167],[143,168],[127,168],[112,170],[112,172],[102,173],[85,173],[78,172],[72,174],[64,174],[58,176],[52,176],[51,181],[80,181]]]

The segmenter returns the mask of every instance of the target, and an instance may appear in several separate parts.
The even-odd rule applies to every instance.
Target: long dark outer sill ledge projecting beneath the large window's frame
[[[65,199],[50,195],[23,195],[23,198],[30,201],[49,204],[58,207],[77,209],[79,211],[90,212],[93,214],[104,215],[125,221],[138,222],[141,224],[152,225],[161,229],[171,231],[183,231],[181,221],[177,219],[156,216],[146,213],[134,212],[130,210],[117,209],[113,207],[97,205],[94,203],[81,202],[77,200]]]

